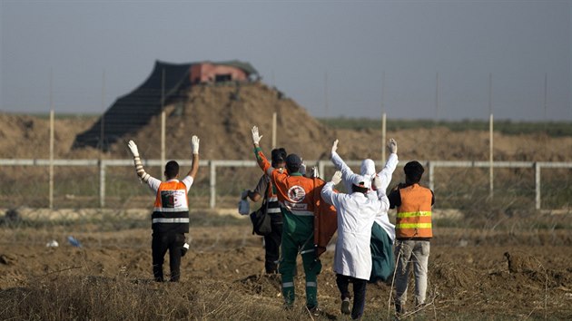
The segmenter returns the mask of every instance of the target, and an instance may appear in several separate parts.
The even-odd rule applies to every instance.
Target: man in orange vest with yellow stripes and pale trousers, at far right
[[[391,191],[390,209],[397,208],[395,225],[395,310],[405,313],[409,268],[415,274],[415,305],[425,303],[429,263],[429,240],[433,237],[431,207],[435,203],[432,190],[419,185],[423,166],[417,160],[405,164],[405,184]]]

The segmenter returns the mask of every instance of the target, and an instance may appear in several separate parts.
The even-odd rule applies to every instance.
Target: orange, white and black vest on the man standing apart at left
[[[163,181],[159,185],[151,220],[154,232],[189,232],[189,200],[182,181]]]

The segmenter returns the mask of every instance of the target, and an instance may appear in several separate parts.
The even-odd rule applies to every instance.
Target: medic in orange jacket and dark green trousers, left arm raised
[[[251,133],[258,165],[271,178],[281,206],[282,258],[278,270],[281,274],[284,306],[291,308],[294,304],[294,272],[296,257],[300,253],[306,277],[306,308],[312,315],[320,315],[318,274],[321,272],[321,261],[316,258],[313,247],[314,180],[302,175],[300,170],[304,166],[302,166],[301,157],[296,154],[286,157],[286,170],[273,168],[259,145],[262,136],[259,134],[258,127],[252,127]]]

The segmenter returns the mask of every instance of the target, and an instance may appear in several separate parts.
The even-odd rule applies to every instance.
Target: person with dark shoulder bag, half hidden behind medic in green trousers
[[[284,170],[286,167],[286,150],[274,149],[271,152],[271,167]],[[265,194],[266,193],[266,194]],[[278,202],[277,190],[271,178],[263,174],[254,190],[246,190],[242,199],[249,198],[256,202],[261,198],[268,202],[268,215],[271,217],[271,232],[264,238],[264,268],[267,274],[278,273],[278,260],[280,258],[280,245],[282,238],[282,213]],[[263,205],[262,205],[263,206]]]

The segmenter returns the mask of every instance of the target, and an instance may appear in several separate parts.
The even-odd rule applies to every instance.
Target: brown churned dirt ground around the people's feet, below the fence
[[[17,288],[49,283],[56,277],[123,277],[147,290],[151,282],[150,229],[102,231],[96,224],[47,229],[0,228],[0,299]],[[83,243],[74,248],[74,235]],[[428,302],[413,319],[570,319],[572,317],[572,237],[569,230],[491,231],[439,229],[431,243]],[[191,250],[182,259],[184,293],[232,291],[248,302],[262,302],[278,319],[310,319],[281,311],[280,277],[263,270],[261,238],[246,220],[192,227]],[[55,239],[57,248],[46,247]],[[344,319],[332,271],[333,252],[322,257],[317,319]],[[510,262],[509,262],[510,260]],[[168,270],[168,264],[165,262]],[[304,279],[299,258],[297,306],[303,307]],[[82,278],[83,279],[83,278]],[[409,302],[411,297],[409,287]],[[221,292],[222,291],[222,292]],[[393,317],[391,286],[370,284],[364,319]],[[412,306],[409,304],[408,306]],[[215,319],[215,317],[204,317]],[[245,317],[240,317],[245,318]],[[249,316],[251,319],[261,319]]]

